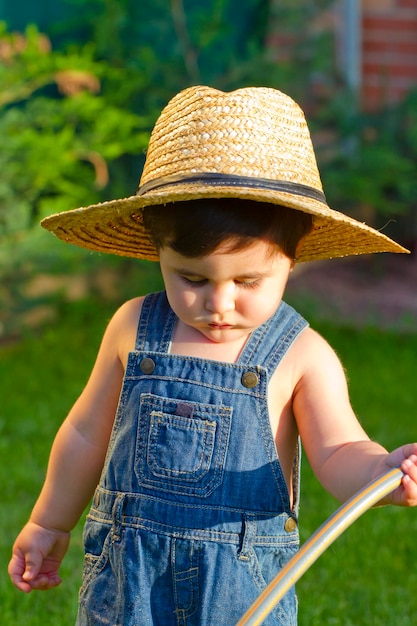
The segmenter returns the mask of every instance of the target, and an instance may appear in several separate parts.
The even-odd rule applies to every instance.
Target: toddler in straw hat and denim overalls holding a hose
[[[299,440],[340,500],[390,468],[417,503],[417,444],[388,453],[351,408],[326,341],[283,301],[296,262],[405,252],[332,210],[304,115],[274,89],[191,87],[158,119],[135,196],[43,226],[159,261],[165,291],[125,303],[54,441],[9,565],[58,585],[84,531],[78,626],[233,626],[298,548]],[[294,626],[290,591],[265,624]]]

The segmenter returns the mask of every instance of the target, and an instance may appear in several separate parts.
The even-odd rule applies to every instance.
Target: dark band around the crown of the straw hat
[[[302,185],[300,183],[292,183],[284,180],[271,180],[269,178],[252,178],[251,176],[236,176],[233,174],[221,174],[211,172],[201,172],[195,175],[173,174],[171,176],[162,176],[155,178],[141,185],[137,191],[138,196],[143,196],[149,191],[161,189],[162,187],[171,187],[172,185],[181,185],[184,183],[201,183],[203,185],[218,185],[222,187],[250,187],[251,189],[264,189],[268,191],[282,191],[291,193],[296,196],[303,196],[312,200],[317,200],[326,204],[326,196],[319,189]]]

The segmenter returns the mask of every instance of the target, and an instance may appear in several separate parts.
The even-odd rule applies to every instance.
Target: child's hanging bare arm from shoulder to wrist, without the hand
[[[52,446],[46,480],[30,520],[71,530],[88,504],[103,467],[124,367],[119,358],[120,310],[103,337],[89,381]]]

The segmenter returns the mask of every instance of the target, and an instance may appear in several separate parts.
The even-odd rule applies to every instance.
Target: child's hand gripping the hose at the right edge
[[[417,506],[417,444],[411,443],[397,448],[384,460],[384,467],[379,473],[386,472],[393,467],[399,467],[404,476],[401,484],[386,500],[388,504],[397,506]]]

